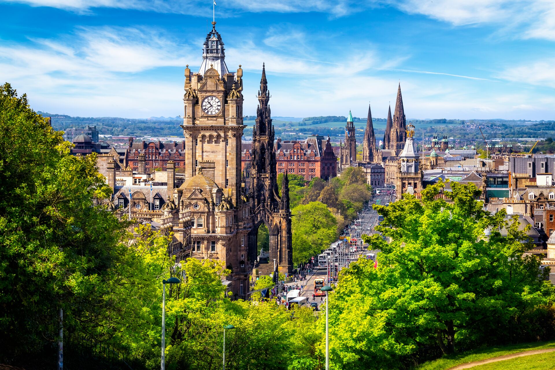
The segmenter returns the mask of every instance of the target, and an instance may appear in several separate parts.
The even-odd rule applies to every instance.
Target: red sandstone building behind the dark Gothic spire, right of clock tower
[[[247,179],[251,165],[251,144],[243,143],[241,152],[241,168]],[[330,138],[321,135],[310,135],[305,141],[281,141],[274,143],[276,170],[278,174],[288,173],[301,175],[309,181],[314,178],[327,180],[337,176],[337,156],[330,144]]]

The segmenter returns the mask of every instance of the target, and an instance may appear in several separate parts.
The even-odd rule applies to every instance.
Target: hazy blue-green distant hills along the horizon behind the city
[[[52,126],[56,130],[67,128],[83,128],[87,125],[96,126],[103,135],[114,136],[181,136],[183,130],[179,127],[181,118],[150,117],[130,119],[119,117],[72,117],[65,114],[38,112],[43,116],[52,117]],[[250,126],[244,131],[245,136],[252,134],[252,125],[256,116],[246,116],[245,124]],[[339,141],[345,136],[345,116],[313,116],[305,118],[274,116],[276,138],[284,140],[299,140],[307,134],[329,135],[332,141]],[[354,117],[357,140],[362,143],[362,135],[366,118]],[[377,138],[382,138],[385,129],[385,118],[372,118]],[[250,121],[250,122],[247,122]],[[503,119],[408,119],[416,126],[417,138],[426,138],[433,134],[447,135],[463,141],[483,141],[478,127],[482,128],[487,140],[517,139],[517,138],[555,138],[555,123],[553,121],[503,120]],[[293,134],[294,133],[294,134]]]

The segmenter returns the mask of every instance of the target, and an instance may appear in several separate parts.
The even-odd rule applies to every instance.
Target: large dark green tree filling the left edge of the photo
[[[0,342],[17,357],[51,346],[60,308],[67,330],[99,325],[125,224],[93,206],[111,194],[95,157],[70,155],[72,144],[7,83],[0,145]]]

